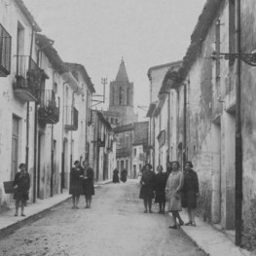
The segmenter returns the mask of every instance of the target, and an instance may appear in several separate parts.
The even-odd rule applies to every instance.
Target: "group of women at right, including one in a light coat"
[[[182,171],[179,162],[168,162],[166,171],[163,170],[163,166],[158,165],[155,173],[150,164],[144,165],[141,170],[139,199],[144,202],[144,213],[153,213],[152,201],[155,199],[155,202],[159,203],[159,213],[165,214],[165,203],[167,211],[172,213],[173,225],[169,228],[177,229],[178,226],[184,225],[179,214],[182,207],[188,209],[189,221],[185,225],[195,227],[199,180],[197,172],[193,170],[193,164],[186,162]]]

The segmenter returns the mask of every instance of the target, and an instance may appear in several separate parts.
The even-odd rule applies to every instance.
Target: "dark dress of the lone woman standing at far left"
[[[15,176],[14,186],[18,185],[15,190],[14,200],[17,201],[27,201],[28,191],[30,189],[30,177],[27,172],[21,173],[18,171]]]

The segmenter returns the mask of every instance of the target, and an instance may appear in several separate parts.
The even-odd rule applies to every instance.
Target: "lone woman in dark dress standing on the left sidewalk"
[[[21,216],[25,216],[24,214],[24,206],[26,205],[26,201],[28,200],[28,192],[30,189],[30,177],[26,171],[26,165],[20,164],[18,166],[20,171],[16,173],[14,180],[14,200],[16,200],[16,213],[15,216],[18,216],[18,206],[20,202],[21,207]]]

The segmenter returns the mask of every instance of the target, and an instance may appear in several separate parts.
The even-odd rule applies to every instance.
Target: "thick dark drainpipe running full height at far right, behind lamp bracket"
[[[237,20],[237,53],[240,54],[240,0],[236,0],[236,20]],[[236,104],[236,245],[241,243],[241,216],[242,216],[242,138],[241,138],[241,120],[240,120],[240,74],[241,63],[237,60],[237,104]]]

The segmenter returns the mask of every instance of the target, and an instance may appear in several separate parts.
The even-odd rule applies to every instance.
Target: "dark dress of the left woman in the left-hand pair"
[[[83,175],[83,169],[81,167],[73,167],[71,169],[69,195],[80,196],[84,194],[81,175]]]

